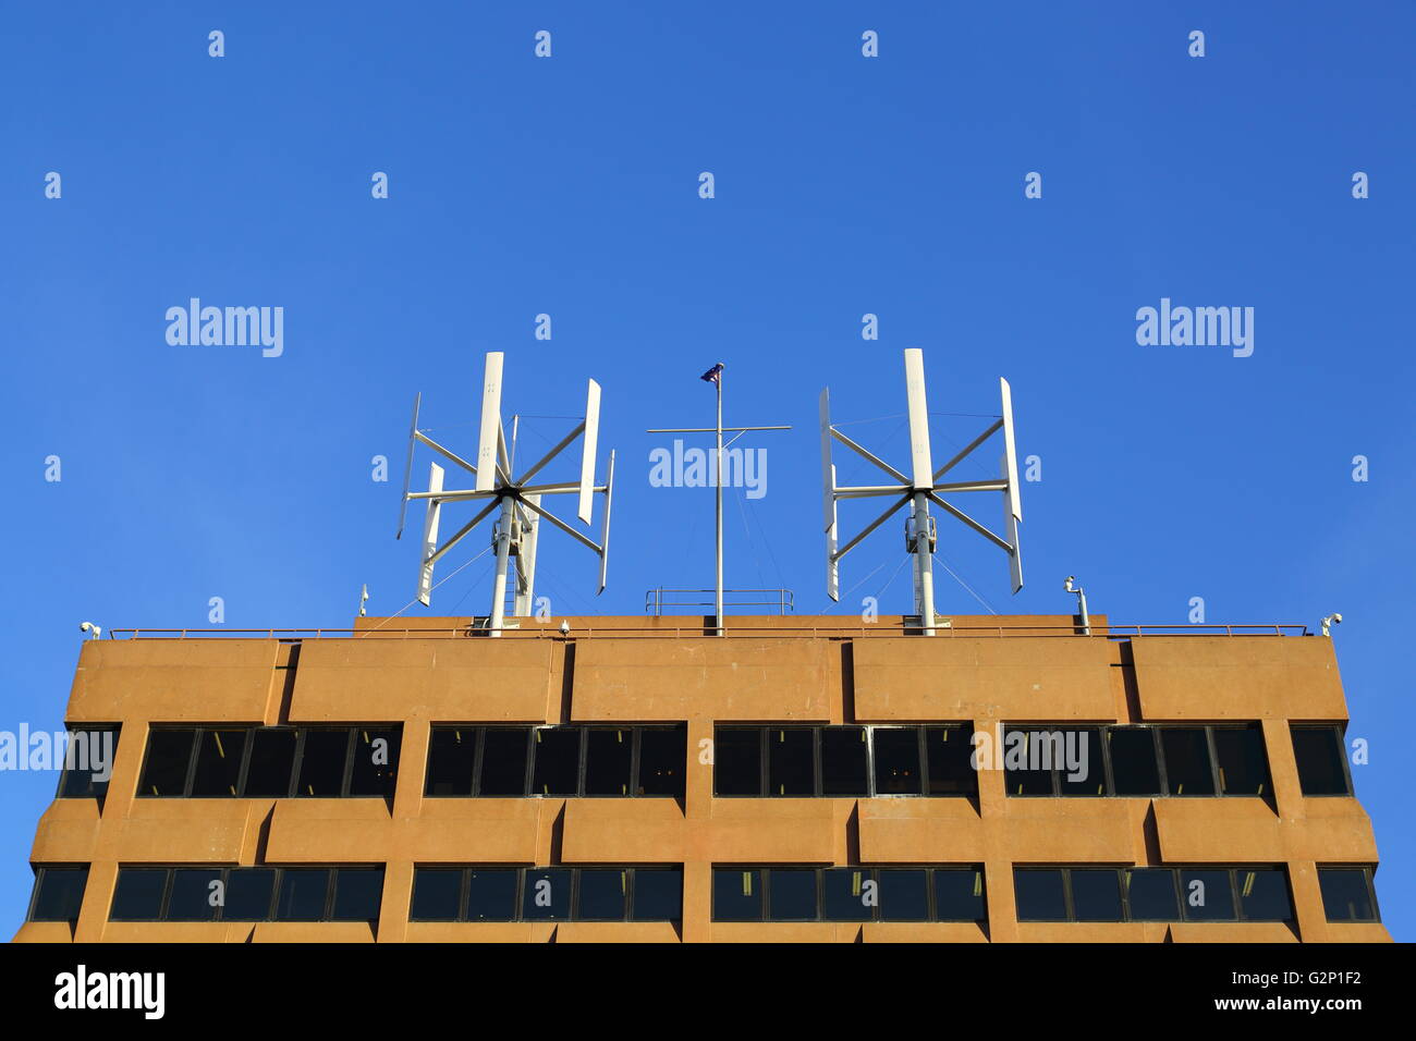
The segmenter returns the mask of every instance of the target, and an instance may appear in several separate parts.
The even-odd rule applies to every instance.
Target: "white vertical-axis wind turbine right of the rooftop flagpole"
[[[831,426],[830,388],[821,391],[821,482],[824,486],[823,506],[826,523],[826,592],[833,601],[841,599],[840,592],[840,561],[854,550],[875,528],[884,524],[903,506],[910,507],[910,514],[905,521],[905,550],[915,558],[915,612],[925,636],[935,635],[935,518],[929,516],[929,504],[959,518],[990,542],[1008,554],[1008,567],[1012,578],[1012,592],[1022,589],[1022,559],[1018,554],[1018,524],[1022,521],[1022,504],[1018,500],[1018,456],[1012,438],[1012,391],[1007,380],[998,380],[1003,395],[1003,415],[988,426],[987,431],[974,438],[959,455],[933,469],[929,453],[929,408],[925,404],[925,353],[918,347],[905,351],[905,392],[909,401],[909,450],[910,474],[905,476],[889,463],[884,462],[861,445],[847,438]],[[998,431],[1003,431],[1003,459],[1000,462],[1001,474],[997,480],[961,480],[939,483],[949,470],[963,462],[974,449],[983,445]],[[845,448],[869,460],[881,470],[895,479],[893,484],[871,484],[862,487],[838,487],[835,484],[835,466],[831,463],[831,440],[838,440]],[[1003,493],[1003,524],[1007,538],[1000,538],[963,510],[944,501],[942,491],[1001,491]],[[837,548],[837,518],[835,504],[843,499],[877,499],[888,497],[893,501],[889,507],[867,524],[855,538],[844,547]]]

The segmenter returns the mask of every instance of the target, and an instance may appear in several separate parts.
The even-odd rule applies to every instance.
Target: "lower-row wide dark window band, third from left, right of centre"
[[[983,868],[715,867],[715,922],[981,922]]]

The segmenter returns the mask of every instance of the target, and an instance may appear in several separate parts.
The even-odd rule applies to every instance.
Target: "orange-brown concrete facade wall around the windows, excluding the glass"
[[[1290,719],[1347,717],[1330,640],[1095,636],[1069,616],[952,619],[933,639],[902,619],[572,618],[501,640],[467,618],[358,619],[304,639],[140,639],[84,644],[71,722],[120,722],[102,813],[55,800],[35,864],[91,864],[76,926],[16,939],[190,942],[1290,942],[1389,939],[1330,925],[1318,864],[1375,864],[1354,799],[1298,789]],[[1273,799],[1010,799],[983,770],[978,799],[715,799],[702,762],[715,722],[1164,722],[1259,719]],[[402,722],[401,776],[377,799],[136,799],[153,722]],[[435,722],[656,722],[688,727],[687,797],[423,799]],[[108,922],[120,864],[384,864],[382,915],[350,923]],[[408,919],[418,864],[683,864],[684,919],[668,923],[433,923]],[[714,864],[983,864],[990,921],[715,923]],[[1284,864],[1293,925],[1020,923],[1015,864]]]

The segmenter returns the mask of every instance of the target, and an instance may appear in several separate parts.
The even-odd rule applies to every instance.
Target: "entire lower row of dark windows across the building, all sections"
[[[1371,867],[1320,867],[1330,922],[1379,922]],[[31,922],[75,922],[88,865],[35,868]],[[1281,867],[1017,867],[1020,922],[1286,922]],[[115,922],[372,922],[382,867],[125,867]],[[683,916],[673,867],[421,867],[415,922],[657,922]],[[973,867],[715,867],[716,922],[981,922]]]

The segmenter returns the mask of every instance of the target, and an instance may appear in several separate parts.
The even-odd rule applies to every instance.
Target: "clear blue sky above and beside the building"
[[[586,377],[605,387],[610,586],[596,602],[590,555],[549,533],[558,613],[711,585],[711,491],[650,487],[666,439],[643,431],[711,422],[698,375],[719,360],[729,422],[794,425],[749,442],[769,449],[769,493],[729,500],[728,584],[823,610],[817,395],[830,382],[843,421],[899,416],[901,350],[923,347],[932,409],[994,412],[1007,375],[1020,453],[1042,459],[1020,596],[1000,551],[940,521],[942,555],[994,609],[1068,612],[1076,574],[1117,622],[1184,622],[1194,596],[1211,622],[1342,612],[1378,894],[1416,938],[1409,3],[0,17],[0,729],[61,725],[85,619],[207,626],[221,596],[229,627],[346,626],[364,582],[370,613],[402,608],[409,405],[422,389],[423,426],[472,452],[487,350],[507,354],[508,415],[573,415]],[[1187,55],[1197,28],[1204,58]],[[389,198],[371,198],[374,171]],[[1371,198],[1352,198],[1354,171]],[[191,296],[285,307],[283,355],[169,346],[164,313]],[[1253,307],[1253,355],[1137,346],[1136,310],[1161,297]],[[981,422],[940,416],[936,452]],[[525,421],[524,450],[565,425]],[[902,457],[898,418],[854,429]],[[838,462],[843,480],[869,473]],[[908,610],[908,571],[886,585],[899,557],[892,523],[848,558],[843,589],[860,585],[835,610],[882,586],[882,610]],[[483,613],[484,564],[433,610]],[[939,578],[942,612],[983,610]],[[6,935],[54,785],[0,775]]]

